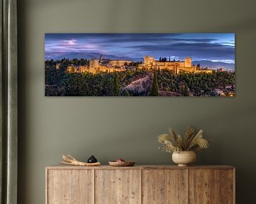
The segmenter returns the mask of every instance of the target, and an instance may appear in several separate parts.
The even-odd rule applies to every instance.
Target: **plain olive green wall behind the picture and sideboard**
[[[18,1],[18,203],[45,202],[45,166],[63,153],[103,164],[171,164],[156,136],[169,126],[212,139],[198,164],[237,167],[237,203],[255,203],[256,1]],[[44,33],[235,33],[235,98],[44,96]],[[252,182],[254,184],[252,184]]]

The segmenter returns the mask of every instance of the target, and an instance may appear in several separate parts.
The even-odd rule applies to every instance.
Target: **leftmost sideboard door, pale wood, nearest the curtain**
[[[92,170],[48,169],[47,204],[92,204]]]

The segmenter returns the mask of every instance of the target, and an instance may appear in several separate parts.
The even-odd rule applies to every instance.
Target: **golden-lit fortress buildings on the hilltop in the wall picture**
[[[56,64],[56,69],[60,68],[60,64]],[[179,72],[185,73],[207,73],[211,74],[213,70],[201,69],[200,67],[194,66],[192,64],[191,57],[185,57],[184,61],[176,60],[155,60],[154,57],[145,56],[144,63],[139,64],[139,69],[169,69],[174,73]],[[95,74],[97,72],[122,72],[127,69],[136,69],[134,62],[131,60],[106,60],[102,59],[92,59],[90,60],[89,66],[68,66],[68,73],[85,73],[89,72]]]

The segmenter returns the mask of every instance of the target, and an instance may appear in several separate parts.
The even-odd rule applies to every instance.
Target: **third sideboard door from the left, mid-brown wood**
[[[184,204],[188,202],[185,169],[144,169],[142,171],[142,203]]]

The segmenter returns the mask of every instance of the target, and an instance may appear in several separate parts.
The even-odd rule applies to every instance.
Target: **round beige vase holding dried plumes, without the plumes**
[[[189,166],[193,162],[196,162],[196,152],[193,151],[181,151],[174,152],[172,159],[178,166]]]

